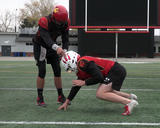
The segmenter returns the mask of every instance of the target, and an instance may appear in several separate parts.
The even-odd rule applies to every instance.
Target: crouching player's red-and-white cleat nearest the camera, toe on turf
[[[138,105],[138,102],[136,100],[131,100],[129,104],[125,106],[125,112],[122,113],[122,115],[127,116],[130,115],[133,111],[133,108]]]

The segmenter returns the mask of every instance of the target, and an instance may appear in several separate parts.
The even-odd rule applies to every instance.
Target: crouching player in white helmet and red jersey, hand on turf
[[[122,83],[126,77],[125,68],[117,62],[91,56],[80,57],[73,51],[66,52],[61,63],[66,71],[76,71],[77,80],[73,80],[67,100],[58,110],[67,109],[69,101],[73,100],[81,86],[89,86],[97,83],[99,87],[96,97],[102,100],[117,102],[125,105],[122,115],[130,115],[133,108],[138,105],[137,96],[120,92]]]

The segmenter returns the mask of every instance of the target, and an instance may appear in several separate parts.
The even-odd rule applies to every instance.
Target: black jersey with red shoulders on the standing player
[[[38,22],[39,28],[34,38],[34,42],[45,47],[46,49],[51,49],[53,44],[56,44],[56,39],[58,36],[62,37],[62,48],[68,49],[69,41],[69,20],[63,26],[57,26],[53,18],[50,15],[46,17],[41,17]]]

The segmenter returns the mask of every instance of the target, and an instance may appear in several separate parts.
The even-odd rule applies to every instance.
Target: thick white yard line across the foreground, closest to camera
[[[138,122],[121,122],[121,123],[113,123],[113,122],[40,122],[40,121],[0,121],[0,124],[45,124],[45,125],[119,125],[119,126],[160,126],[160,123],[138,123]]]

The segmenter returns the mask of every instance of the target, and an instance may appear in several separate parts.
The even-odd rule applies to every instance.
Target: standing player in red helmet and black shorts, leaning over
[[[65,55],[69,42],[69,18],[66,8],[62,5],[56,6],[52,14],[40,18],[38,25],[38,31],[33,38],[34,58],[38,66],[37,105],[46,106],[43,97],[46,63],[51,64],[54,72],[54,84],[58,92],[57,101],[63,103],[65,96],[62,90],[60,56]],[[58,36],[62,38],[62,48],[56,42]]]

